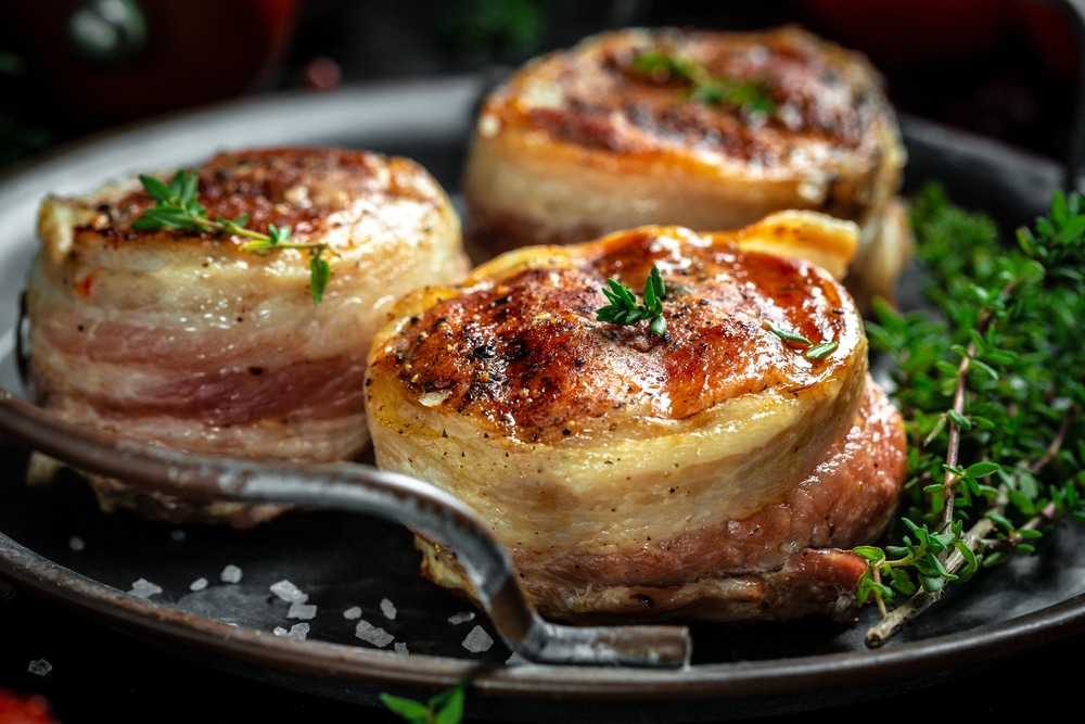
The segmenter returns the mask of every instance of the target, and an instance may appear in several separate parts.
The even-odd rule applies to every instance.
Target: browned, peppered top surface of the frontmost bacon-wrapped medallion
[[[650,228],[538,254],[564,256],[438,293],[374,364],[414,397],[553,441],[611,414],[680,420],[745,393],[801,395],[865,355],[851,297],[799,259]],[[639,293],[653,264],[666,334],[597,321],[607,279]],[[810,359],[770,326],[839,347]]]

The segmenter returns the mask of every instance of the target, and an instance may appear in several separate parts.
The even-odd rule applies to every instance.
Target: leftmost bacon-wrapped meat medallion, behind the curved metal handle
[[[208,218],[247,216],[250,229],[289,226],[291,241],[324,244],[321,303],[310,296],[309,251],[261,255],[241,236],[133,229],[154,203],[136,178],[50,196],[27,282],[35,399],[69,421],[187,452],[355,457],[369,442],[362,382],[386,307],[467,272],[449,198],[407,158],[291,147],[207,160],[197,201]],[[103,507],[170,522],[260,517],[92,482]]]

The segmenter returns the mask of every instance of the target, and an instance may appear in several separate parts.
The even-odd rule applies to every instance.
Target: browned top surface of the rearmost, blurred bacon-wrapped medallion
[[[698,66],[717,87],[757,89],[767,112],[726,100],[690,100],[678,73],[644,73],[647,53]],[[740,91],[741,92],[741,91]],[[790,164],[789,154],[866,149],[890,107],[867,60],[797,28],[727,34],[677,28],[618,30],[528,64],[485,109],[508,127],[613,153],[689,148],[743,162]],[[895,122],[893,122],[895,123]],[[879,140],[880,142],[880,140]]]

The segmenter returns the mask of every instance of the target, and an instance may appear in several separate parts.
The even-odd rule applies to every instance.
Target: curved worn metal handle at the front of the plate
[[[0,388],[0,433],[79,470],[196,498],[369,513],[424,533],[456,555],[510,649],[528,661],[682,666],[684,626],[565,626],[524,598],[508,551],[458,498],[413,478],[350,462],[291,465],[187,455],[79,428]]]

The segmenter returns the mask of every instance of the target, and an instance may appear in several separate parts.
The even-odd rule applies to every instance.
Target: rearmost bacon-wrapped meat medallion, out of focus
[[[655,51],[755,84],[771,107],[689,99],[675,74],[635,68]],[[644,224],[732,229],[786,208],[854,220],[876,243],[905,158],[882,86],[860,54],[790,26],[630,28],[540,56],[481,109],[469,246],[484,259]]]

